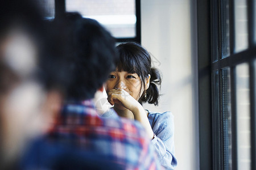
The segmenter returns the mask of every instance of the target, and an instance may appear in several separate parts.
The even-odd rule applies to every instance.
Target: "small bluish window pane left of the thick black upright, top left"
[[[44,16],[47,19],[53,19],[55,16],[55,0],[37,0],[38,6],[44,10]]]

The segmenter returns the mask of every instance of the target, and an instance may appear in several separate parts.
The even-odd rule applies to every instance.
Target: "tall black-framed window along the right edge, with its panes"
[[[256,1],[197,3],[200,168],[256,169]]]

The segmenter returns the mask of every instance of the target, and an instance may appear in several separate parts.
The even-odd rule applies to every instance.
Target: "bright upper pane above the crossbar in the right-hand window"
[[[235,0],[235,51],[240,52],[248,48],[247,30],[247,0]]]

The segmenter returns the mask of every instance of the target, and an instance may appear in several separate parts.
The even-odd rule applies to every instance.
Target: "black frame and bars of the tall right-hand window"
[[[254,0],[255,1],[255,0]],[[250,84],[250,116],[251,116],[251,169],[256,169],[256,116],[255,116],[255,65],[256,44],[254,42],[255,19],[254,1],[247,0],[247,19],[249,47],[242,52],[234,52],[234,1],[229,2],[230,55],[222,56],[221,0],[197,0],[197,45],[199,75],[199,137],[200,137],[200,169],[225,169],[223,152],[223,120],[221,101],[221,69],[230,68],[231,104],[232,104],[232,169],[237,167],[236,137],[236,73],[235,67],[240,63],[249,63]],[[213,61],[213,57],[218,57]],[[214,75],[218,71],[218,104],[214,103]],[[218,107],[218,108],[216,108]],[[220,111],[214,114],[214,111]]]

